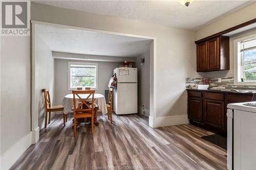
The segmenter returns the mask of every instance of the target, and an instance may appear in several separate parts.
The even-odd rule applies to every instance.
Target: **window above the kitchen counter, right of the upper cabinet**
[[[234,41],[234,82],[237,85],[256,84],[256,35]]]

